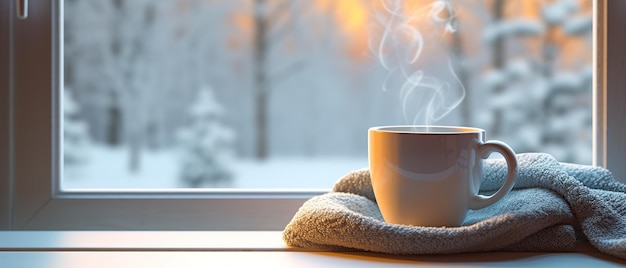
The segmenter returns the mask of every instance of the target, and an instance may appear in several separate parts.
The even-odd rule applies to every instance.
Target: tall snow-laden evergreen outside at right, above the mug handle
[[[505,17],[503,9],[516,4],[538,15]],[[497,0],[493,8],[483,32],[492,48],[482,76],[490,105],[481,118],[490,123],[483,124],[517,151],[590,163],[591,65],[581,51],[590,49],[591,13],[575,0]]]

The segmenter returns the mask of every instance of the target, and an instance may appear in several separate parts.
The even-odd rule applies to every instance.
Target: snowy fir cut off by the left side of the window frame
[[[89,134],[80,118],[80,109],[72,92],[63,92],[63,164],[71,169],[84,164],[87,158]]]

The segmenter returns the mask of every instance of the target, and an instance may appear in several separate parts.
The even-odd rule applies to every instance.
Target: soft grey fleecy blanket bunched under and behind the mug
[[[515,188],[461,227],[386,223],[369,171],[353,171],[332,192],[308,200],[283,231],[290,246],[329,251],[448,254],[571,251],[577,238],[626,259],[626,185],[602,168],[564,164],[547,154],[518,155]],[[506,163],[486,160],[481,192],[500,187]]]

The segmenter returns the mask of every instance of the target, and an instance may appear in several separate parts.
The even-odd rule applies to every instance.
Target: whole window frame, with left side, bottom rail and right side
[[[31,0],[25,20],[16,2],[0,1],[0,230],[282,230],[324,192],[61,191],[62,1]],[[626,178],[626,1],[594,10],[594,164]]]

